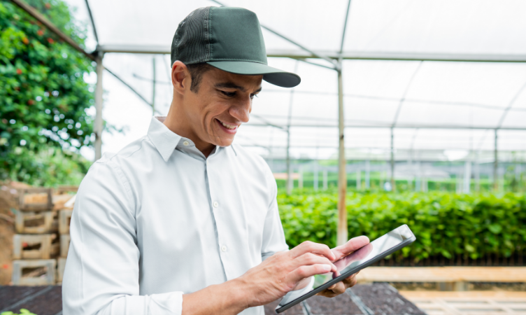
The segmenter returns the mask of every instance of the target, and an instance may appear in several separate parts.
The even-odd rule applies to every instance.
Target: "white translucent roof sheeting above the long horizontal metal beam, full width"
[[[78,0],[76,0],[78,1]],[[257,13],[262,25],[313,50],[339,50],[346,0],[224,0]],[[196,0],[90,0],[101,45],[167,46],[178,23],[201,6]],[[345,51],[524,54],[522,0],[353,0]],[[298,50],[270,33],[267,48]]]

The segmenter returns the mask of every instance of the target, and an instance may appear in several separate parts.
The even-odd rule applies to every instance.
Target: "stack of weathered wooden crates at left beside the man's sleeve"
[[[74,199],[70,201],[74,196],[67,192],[74,189],[59,188],[57,195],[53,195],[52,188],[19,191],[19,211],[15,217],[17,234],[13,236],[13,285],[45,286],[62,282],[72,211],[64,209],[64,204],[72,208]]]

